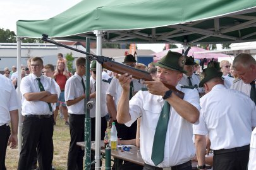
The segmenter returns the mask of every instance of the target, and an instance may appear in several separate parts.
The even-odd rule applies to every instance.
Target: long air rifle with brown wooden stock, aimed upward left
[[[58,43],[58,42],[55,42],[53,40],[49,40],[48,35],[46,35],[46,34],[43,34],[41,39],[45,42],[53,43],[55,45],[65,47],[65,48],[68,48],[70,50],[74,50],[76,52],[86,54],[87,55],[87,57],[86,57],[87,60],[89,60],[89,61],[97,60],[97,62],[99,62],[102,65],[102,67],[104,67],[105,69],[107,69],[109,71],[113,71],[113,72],[116,72],[118,74],[128,73],[128,75],[132,75],[133,78],[138,79],[140,82],[154,81],[154,79],[152,79],[152,76],[150,75],[149,72],[142,71],[142,70],[130,67],[128,65],[121,64],[119,62],[115,62],[115,61],[112,60],[112,58],[104,57],[102,55],[90,54],[88,52],[84,52],[82,50],[78,50],[76,48],[69,47],[69,46],[64,45],[62,43]],[[174,86],[171,86],[171,85],[166,84],[166,83],[164,83],[164,86],[171,89],[171,91],[173,91],[173,93],[175,93],[179,98],[181,98],[181,99],[184,98],[184,93],[179,91],[178,89],[176,89]]]

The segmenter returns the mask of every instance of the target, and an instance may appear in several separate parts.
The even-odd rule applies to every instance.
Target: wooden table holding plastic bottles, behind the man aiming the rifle
[[[85,147],[85,142],[76,142],[76,145],[80,147]],[[101,141],[101,153],[105,154],[105,149],[104,149],[104,142]],[[92,141],[91,143],[91,149],[95,150],[95,142]],[[121,151],[121,149],[118,150],[111,150],[111,156],[116,157],[118,159],[123,159],[125,161],[133,162],[135,164],[144,165],[144,161],[142,159],[142,156],[140,155],[140,152],[138,151],[137,147],[133,146],[130,149],[130,152],[127,151]],[[207,169],[210,169],[211,167],[207,165]],[[192,169],[197,169],[197,162],[192,161]]]

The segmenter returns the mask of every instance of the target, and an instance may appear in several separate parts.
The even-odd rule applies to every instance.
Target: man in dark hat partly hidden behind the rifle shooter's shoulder
[[[194,73],[195,64],[196,63],[193,57],[186,57],[186,62],[183,67],[186,73],[183,73],[183,77],[179,81],[179,84],[195,87],[198,90],[198,93],[201,94],[201,93],[204,93],[204,91],[202,88],[198,88],[198,84],[200,82],[200,76]]]

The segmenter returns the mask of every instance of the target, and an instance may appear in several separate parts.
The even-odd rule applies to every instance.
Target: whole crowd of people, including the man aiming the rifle
[[[128,169],[256,169],[256,61],[239,54],[233,64],[210,61],[198,74],[193,57],[169,51],[148,66],[128,54],[123,64],[149,72],[154,81],[140,83],[131,75],[102,71],[101,140],[115,122],[120,144],[140,147],[144,166],[119,160]],[[18,109],[23,115],[22,147],[18,169],[52,169],[52,135],[58,112],[70,128],[67,169],[83,169],[84,151],[76,142],[85,133],[85,58],[75,62],[74,74],[58,54],[54,65],[32,57],[21,67],[18,100],[16,66],[0,75],[0,169],[6,169],[6,147],[18,144]],[[104,74],[103,74],[104,73]],[[3,83],[2,83],[3,82]],[[90,66],[90,96],[96,97],[96,62]],[[95,140],[95,108],[90,111]],[[11,129],[9,127],[11,123]],[[254,129],[254,130],[253,130]],[[135,140],[136,139],[136,140]],[[136,142],[135,142],[136,141]],[[213,157],[208,156],[210,150]],[[92,152],[94,159],[94,152]],[[37,166],[38,162],[38,166]],[[116,162],[115,162],[116,164]],[[116,166],[113,166],[113,169]],[[92,166],[94,169],[94,166]]]

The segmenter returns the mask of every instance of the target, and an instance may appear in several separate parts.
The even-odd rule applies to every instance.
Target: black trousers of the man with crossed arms
[[[22,147],[18,170],[32,169],[32,162],[37,153],[40,170],[51,169],[53,157],[53,119],[25,116],[22,125]],[[37,147],[37,152],[36,152]]]

